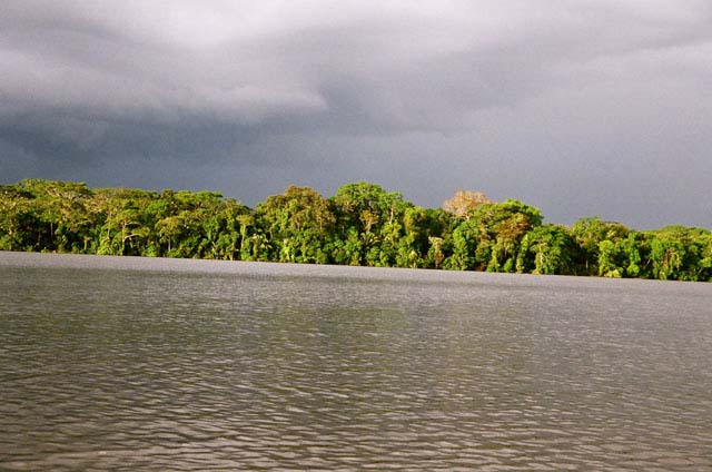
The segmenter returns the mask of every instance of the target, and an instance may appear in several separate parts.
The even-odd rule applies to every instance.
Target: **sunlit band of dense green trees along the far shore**
[[[0,249],[712,281],[712,234],[597,217],[544,224],[518,200],[458,191],[421,208],[368,183],[288,187],[254,209],[214,191],[0,186]]]

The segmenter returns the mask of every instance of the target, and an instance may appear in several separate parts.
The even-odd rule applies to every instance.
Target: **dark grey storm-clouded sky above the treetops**
[[[0,71],[0,184],[712,228],[708,0],[3,0]]]

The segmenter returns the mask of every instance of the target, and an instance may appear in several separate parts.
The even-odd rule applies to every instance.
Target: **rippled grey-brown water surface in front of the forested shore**
[[[710,470],[712,285],[0,253],[3,470]]]

